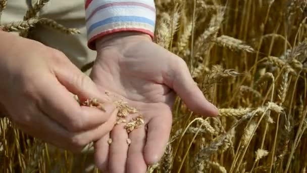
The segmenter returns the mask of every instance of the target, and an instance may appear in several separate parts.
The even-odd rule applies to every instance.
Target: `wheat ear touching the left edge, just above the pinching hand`
[[[39,22],[38,18],[32,18],[27,21],[11,22],[0,26],[0,28],[3,31],[7,32],[22,31],[34,27],[34,25],[37,24],[38,22]]]

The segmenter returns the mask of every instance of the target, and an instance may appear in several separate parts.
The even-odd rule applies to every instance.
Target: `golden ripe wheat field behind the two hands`
[[[78,33],[39,18],[47,2],[0,27],[21,36],[38,24]],[[186,61],[219,116],[194,114],[178,98],[165,155],[148,172],[306,172],[306,6],[303,0],[156,1],[154,41]],[[74,159],[1,119],[4,172],[72,172]]]

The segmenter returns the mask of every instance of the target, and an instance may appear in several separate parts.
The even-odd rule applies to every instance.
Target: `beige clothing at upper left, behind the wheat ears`
[[[1,17],[1,23],[22,21],[28,8],[27,4],[30,1],[8,1],[7,9]],[[36,40],[62,51],[79,68],[95,59],[96,52],[87,48],[84,0],[51,0],[44,6],[39,15],[56,20],[66,27],[78,28],[81,30],[81,34],[67,35],[54,29],[40,26],[33,29]]]

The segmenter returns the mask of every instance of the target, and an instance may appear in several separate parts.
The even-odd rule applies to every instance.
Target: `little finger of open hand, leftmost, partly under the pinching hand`
[[[109,139],[110,133],[99,139],[94,144],[95,163],[99,170],[107,172],[109,164]]]

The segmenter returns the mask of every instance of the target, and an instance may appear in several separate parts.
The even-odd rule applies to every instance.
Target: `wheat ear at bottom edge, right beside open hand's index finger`
[[[161,170],[162,172],[171,172],[173,162],[173,148],[170,143],[167,144],[165,153],[161,159]]]

